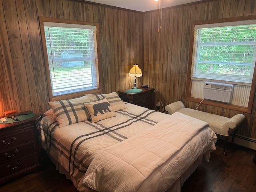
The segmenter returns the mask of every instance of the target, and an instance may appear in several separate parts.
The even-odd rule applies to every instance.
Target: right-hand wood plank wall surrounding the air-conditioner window
[[[186,107],[198,106],[196,102],[185,101],[191,22],[254,14],[255,0],[206,0],[163,9],[162,30],[158,33],[158,12],[144,13],[143,84],[156,88],[155,103],[161,101],[166,106],[181,100]],[[246,120],[238,134],[256,139],[255,106],[256,100],[251,114],[205,104],[198,109],[226,117],[244,114]]]

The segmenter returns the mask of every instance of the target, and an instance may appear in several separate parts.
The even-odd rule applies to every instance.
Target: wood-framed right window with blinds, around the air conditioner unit
[[[250,111],[255,90],[256,20],[194,22],[192,30],[187,80],[191,86],[186,98],[202,100],[205,81],[234,84],[232,105]],[[230,108],[228,104],[222,107]]]

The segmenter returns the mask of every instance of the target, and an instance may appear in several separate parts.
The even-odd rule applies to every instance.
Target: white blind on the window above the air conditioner
[[[251,84],[256,20],[195,26],[192,79]]]

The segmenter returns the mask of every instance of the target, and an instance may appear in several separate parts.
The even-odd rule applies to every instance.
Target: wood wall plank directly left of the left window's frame
[[[39,3],[39,2],[37,2]],[[48,105],[48,90],[46,84],[46,74],[44,69],[44,60],[42,53],[42,42],[40,38],[40,30],[38,24],[38,15],[36,7],[38,7],[34,0],[24,1],[24,8],[26,13],[26,21],[28,28],[28,39],[31,51],[32,64],[34,68],[34,77],[36,84],[36,93],[38,98],[38,110],[42,115],[49,109]]]

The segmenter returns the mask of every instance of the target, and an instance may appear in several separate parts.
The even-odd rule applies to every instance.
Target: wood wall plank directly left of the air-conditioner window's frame
[[[182,14],[182,35],[181,35],[181,51],[180,51],[180,75],[179,75],[179,88],[177,100],[185,100],[188,52],[189,52],[189,38],[190,38],[190,15],[191,6],[183,7]]]

